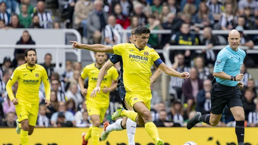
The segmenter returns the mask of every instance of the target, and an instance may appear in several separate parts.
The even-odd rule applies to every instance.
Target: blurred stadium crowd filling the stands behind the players
[[[240,32],[241,44],[253,49],[258,45],[257,35],[245,35],[244,30],[258,29],[258,2],[255,0],[69,0],[63,28],[81,30],[83,43],[115,45],[121,43],[118,30],[133,29],[139,25],[151,30],[172,30],[171,34],[151,34],[149,44],[154,49],[167,45],[205,45],[207,50],[172,50],[172,68],[190,72],[187,80],[170,77],[169,101],[164,103],[152,85],[152,120],[157,127],[186,126],[196,111],[203,114],[211,109],[211,80],[218,51],[215,45],[227,45],[225,35],[213,35],[212,30]],[[60,22],[45,9],[45,2],[33,7],[30,0],[0,0],[1,28],[60,28]],[[72,25],[73,24],[73,25]],[[203,34],[198,31],[203,30]],[[35,44],[28,31],[23,31],[16,44]],[[222,47],[223,48],[223,47]],[[221,48],[221,49],[222,49]],[[241,48],[241,46],[240,46]],[[15,106],[9,100],[5,85],[13,69],[26,63],[25,49],[15,49],[14,59],[5,57],[0,69],[0,126],[15,127]],[[40,56],[38,56],[40,57]],[[161,56],[163,59],[163,57]],[[91,120],[86,111],[84,97],[78,85],[82,72],[80,62],[66,62],[66,69],[59,75],[54,71],[51,54],[46,54],[41,64],[47,71],[51,85],[51,106],[44,105],[44,85],[40,88],[38,127],[89,127]],[[164,60],[164,59],[163,59]],[[242,102],[246,126],[258,126],[258,99],[255,80],[246,68],[257,67],[258,58],[247,54],[241,68],[246,72],[242,82]],[[120,71],[119,68],[117,68]],[[85,88],[87,87],[87,83]],[[13,86],[16,93],[18,83]],[[89,92],[88,92],[89,93]],[[112,122],[111,115],[121,103],[117,91],[110,93],[110,107],[103,122]],[[218,126],[234,126],[228,108],[223,111]],[[208,126],[199,123],[196,126]]]

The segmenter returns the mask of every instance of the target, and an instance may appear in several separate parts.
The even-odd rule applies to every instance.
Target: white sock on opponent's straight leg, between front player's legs
[[[127,132],[127,137],[128,137],[128,145],[135,145],[135,142],[134,142],[135,130],[136,130],[136,122],[134,122],[133,120],[130,120],[128,118],[127,122],[126,122],[126,132]]]

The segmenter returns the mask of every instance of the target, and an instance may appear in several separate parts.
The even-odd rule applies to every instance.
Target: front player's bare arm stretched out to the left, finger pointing
[[[93,45],[88,45],[88,44],[81,44],[78,43],[77,41],[69,41],[72,44],[72,48],[75,49],[86,49],[86,50],[91,50],[94,52],[109,52],[109,53],[114,53],[113,47],[112,46],[105,46],[102,44],[93,44]]]

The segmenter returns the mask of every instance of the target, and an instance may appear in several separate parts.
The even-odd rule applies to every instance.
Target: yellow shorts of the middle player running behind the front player
[[[106,114],[106,110],[108,109],[109,103],[105,103],[106,105],[101,105],[100,103],[93,103],[92,101],[86,100],[85,104],[89,116],[99,115],[100,123],[102,123]]]

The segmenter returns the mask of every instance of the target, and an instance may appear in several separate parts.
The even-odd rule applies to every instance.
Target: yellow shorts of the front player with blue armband
[[[126,92],[125,100],[133,107],[137,102],[142,102],[150,110],[150,100],[152,98],[151,91],[147,92]]]

